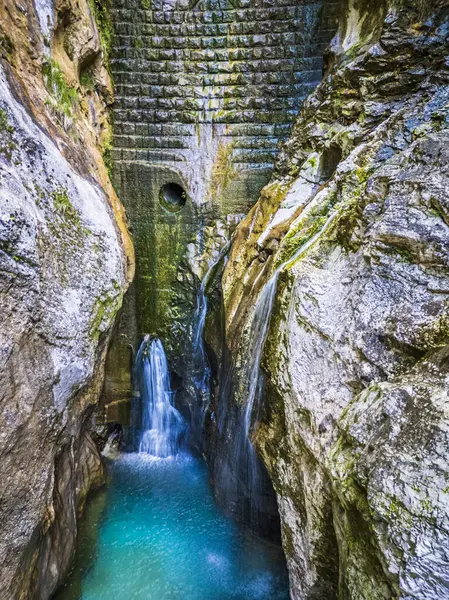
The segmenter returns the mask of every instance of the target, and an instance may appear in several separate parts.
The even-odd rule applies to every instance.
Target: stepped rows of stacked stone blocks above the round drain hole
[[[321,78],[337,4],[114,0],[114,158],[176,165],[188,179],[189,138],[216,126],[237,172],[270,169]]]

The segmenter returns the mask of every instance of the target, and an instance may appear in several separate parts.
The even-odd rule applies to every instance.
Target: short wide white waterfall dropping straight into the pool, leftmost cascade
[[[146,335],[136,356],[134,377],[140,392],[134,418],[140,453],[159,458],[174,456],[185,431],[181,413],[173,406],[167,357],[162,342]]]

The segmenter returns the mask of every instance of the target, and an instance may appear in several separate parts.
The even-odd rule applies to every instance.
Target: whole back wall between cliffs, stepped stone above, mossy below
[[[106,375],[109,400],[120,400],[130,395],[129,345],[145,333],[164,340],[185,379],[175,363],[208,270],[208,230],[216,221],[231,230],[270,178],[278,143],[321,79],[338,2],[110,4],[114,183],[137,263]],[[185,196],[170,203],[173,184]]]

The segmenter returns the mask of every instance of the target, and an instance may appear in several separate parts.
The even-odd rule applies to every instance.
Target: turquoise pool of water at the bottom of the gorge
[[[57,600],[288,600],[281,550],[215,505],[189,455],[124,455],[90,503]]]

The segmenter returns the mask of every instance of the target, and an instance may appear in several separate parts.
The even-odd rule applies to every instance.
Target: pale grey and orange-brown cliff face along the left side
[[[100,154],[108,86],[87,4],[5,8],[0,597],[46,599],[72,557],[86,495],[104,480],[93,413],[133,259]],[[94,65],[88,90],[78,76]]]

